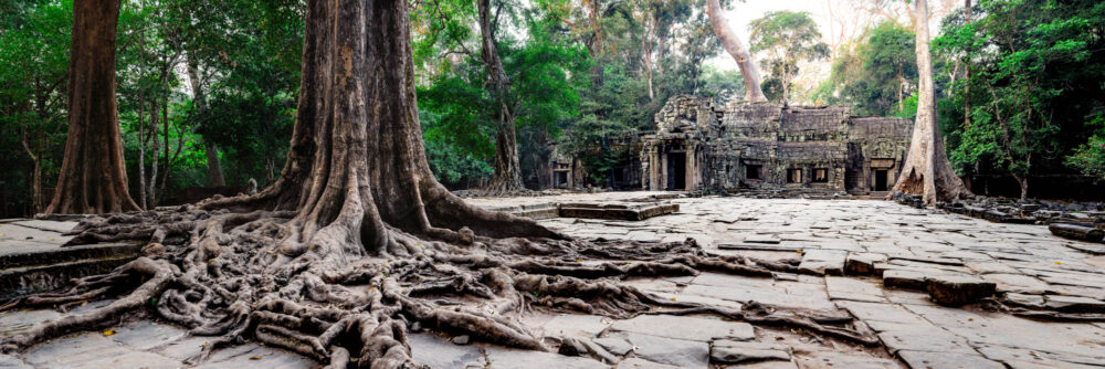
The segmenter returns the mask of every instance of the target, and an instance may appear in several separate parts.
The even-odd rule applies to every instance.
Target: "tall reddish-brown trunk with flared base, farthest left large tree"
[[[115,103],[119,0],[76,0],[69,80],[69,136],[45,213],[138,210],[127,189]]]

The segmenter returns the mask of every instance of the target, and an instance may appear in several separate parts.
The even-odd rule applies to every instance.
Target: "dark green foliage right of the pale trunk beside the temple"
[[[985,162],[1018,178],[1061,171],[1064,162],[1095,172],[1099,136],[1083,122],[1105,106],[1105,3],[983,0],[975,12],[982,17],[966,24],[959,14],[947,19],[934,40],[938,55],[970,70],[943,116],[953,162]]]

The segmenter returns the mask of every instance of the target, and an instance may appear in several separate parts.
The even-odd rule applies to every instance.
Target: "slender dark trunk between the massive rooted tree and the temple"
[[[492,24],[491,0],[476,0],[480,8],[480,34],[483,48],[480,55],[487,68],[488,88],[497,105],[495,115],[498,129],[495,134],[495,176],[486,189],[487,193],[509,194],[525,191],[522,184],[522,167],[518,165],[518,136],[515,127],[514,107],[508,99],[509,78],[503,68],[495,43]]]

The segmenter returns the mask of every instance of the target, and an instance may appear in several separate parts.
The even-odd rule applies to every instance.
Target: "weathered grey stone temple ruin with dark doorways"
[[[855,117],[848,106],[729,104],[681,95],[654,130],[612,145],[635,152],[612,169],[610,187],[673,191],[782,190],[870,194],[897,180],[913,123]],[[579,166],[554,158],[554,187],[579,182]],[[567,184],[567,186],[566,186]]]

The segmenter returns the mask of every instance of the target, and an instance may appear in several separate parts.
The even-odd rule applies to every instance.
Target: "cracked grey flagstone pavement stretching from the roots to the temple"
[[[469,199],[480,205],[549,201],[627,200],[644,192]],[[991,223],[887,201],[674,200],[678,213],[640,222],[556,218],[541,223],[565,233],[610,240],[683,241],[708,252],[797,265],[794,274],[756,278],[703,273],[635,278],[664,298],[739,308],[755,301],[779,307],[846,310],[878,334],[881,346],[859,347],[800,329],[753,326],[706,316],[529,313],[535,333],[568,337],[561,352],[598,351],[618,368],[1093,368],[1105,367],[1105,323],[1029,319],[971,304],[934,303],[929,288],[992,286],[1007,306],[1025,312],[1105,313],[1105,257],[1045,226]],[[859,275],[857,275],[859,274]],[[896,287],[891,287],[896,286]],[[954,291],[956,292],[956,291]],[[1001,297],[1004,296],[1004,297]],[[101,303],[78,309],[96,308]],[[56,318],[52,310],[0,314],[0,335]],[[115,334],[86,333],[40,345],[0,368],[185,367],[203,338],[143,320]],[[412,333],[420,362],[433,368],[604,368],[590,357],[507,349],[466,337]],[[246,344],[219,351],[201,367],[312,368],[295,355]]]

